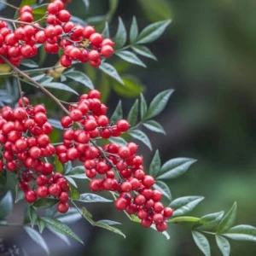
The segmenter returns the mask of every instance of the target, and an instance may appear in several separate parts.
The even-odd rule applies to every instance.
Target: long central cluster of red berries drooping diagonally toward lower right
[[[120,119],[116,125],[109,123],[107,108],[100,101],[100,96],[98,90],[90,90],[80,96],[77,104],[70,106],[69,115],[61,119],[61,125],[67,130],[56,154],[62,163],[78,159],[84,162],[92,191],[119,193],[115,201],[119,211],[137,214],[143,227],[155,224],[157,230],[165,231],[166,219],[172,217],[173,211],[160,202],[161,192],[152,189],[154,177],[143,171],[143,157],[137,155],[137,144],[119,146],[108,143],[101,148],[90,140],[119,137],[130,127],[125,119]]]

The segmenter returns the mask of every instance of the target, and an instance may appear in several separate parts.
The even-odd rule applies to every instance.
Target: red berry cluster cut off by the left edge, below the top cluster
[[[26,201],[49,195],[59,199],[57,209],[67,212],[69,185],[44,158],[55,154],[49,133],[53,130],[42,105],[32,107],[22,97],[19,107],[3,107],[0,114],[0,171],[14,172]]]

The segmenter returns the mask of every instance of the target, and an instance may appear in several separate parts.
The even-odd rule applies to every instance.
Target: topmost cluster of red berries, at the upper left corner
[[[49,3],[45,17],[47,26],[43,28],[33,22],[32,8],[25,5],[20,8],[21,25],[15,32],[1,21],[0,55],[19,66],[23,58],[37,55],[36,43],[44,44],[45,51],[50,54],[57,54],[62,49],[64,55],[61,55],[60,62],[63,67],[70,67],[72,61],[90,61],[91,66],[99,67],[102,57],[113,55],[113,41],[102,38],[93,26],[75,25],[61,0]]]

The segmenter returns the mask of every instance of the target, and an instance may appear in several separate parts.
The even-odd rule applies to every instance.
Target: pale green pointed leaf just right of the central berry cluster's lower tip
[[[174,209],[173,217],[185,215],[195,209],[195,207],[204,200],[202,196],[183,196],[175,199],[170,204]]]

